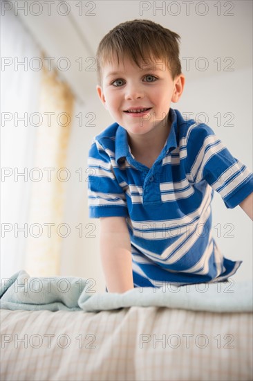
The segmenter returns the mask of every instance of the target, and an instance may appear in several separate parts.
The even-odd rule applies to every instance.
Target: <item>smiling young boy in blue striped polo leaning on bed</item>
[[[97,50],[97,93],[115,123],[93,139],[88,200],[109,292],[224,281],[241,265],[214,241],[211,201],[216,190],[252,218],[253,175],[210,127],[170,108],[185,85],[179,39],[133,20]]]

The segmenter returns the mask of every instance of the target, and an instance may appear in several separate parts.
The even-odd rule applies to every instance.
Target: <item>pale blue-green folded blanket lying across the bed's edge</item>
[[[211,312],[252,312],[253,282],[200,283],[160,288],[138,287],[122,294],[95,293],[91,280],[76,277],[32,278],[21,270],[1,281],[1,308],[99,312],[133,305]]]

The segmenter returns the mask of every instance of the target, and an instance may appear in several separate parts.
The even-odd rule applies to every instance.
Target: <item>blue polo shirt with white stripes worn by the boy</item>
[[[214,283],[242,261],[229,260],[213,237],[214,190],[234,208],[253,190],[253,175],[204,123],[169,110],[171,130],[151,168],[131,153],[113,123],[88,153],[90,218],[126,218],[135,287]]]

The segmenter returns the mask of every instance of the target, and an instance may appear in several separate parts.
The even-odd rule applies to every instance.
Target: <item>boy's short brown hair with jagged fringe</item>
[[[115,26],[101,40],[97,48],[97,80],[101,86],[102,67],[111,63],[115,55],[127,56],[140,67],[140,58],[165,59],[174,79],[181,73],[179,60],[180,36],[151,20],[135,19]],[[173,62],[173,64],[172,64]],[[140,67],[141,69],[141,67]]]

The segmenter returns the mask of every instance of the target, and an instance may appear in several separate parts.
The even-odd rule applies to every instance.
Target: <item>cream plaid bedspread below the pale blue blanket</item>
[[[252,380],[252,313],[1,310],[1,380]]]

